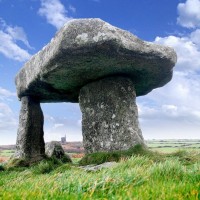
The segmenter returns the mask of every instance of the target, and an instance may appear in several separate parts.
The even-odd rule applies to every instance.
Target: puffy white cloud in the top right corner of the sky
[[[187,0],[178,4],[178,24],[186,28],[200,27],[200,0]]]

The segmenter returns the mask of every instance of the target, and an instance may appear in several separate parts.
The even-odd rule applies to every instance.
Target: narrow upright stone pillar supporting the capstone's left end
[[[14,158],[33,163],[42,160],[45,156],[44,117],[38,100],[25,96],[21,98],[21,103]]]

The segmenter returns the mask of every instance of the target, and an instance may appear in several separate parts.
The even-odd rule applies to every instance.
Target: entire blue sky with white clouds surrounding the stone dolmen
[[[16,73],[73,18],[101,18],[173,47],[172,81],[137,98],[140,126],[145,139],[200,138],[200,0],[0,0],[0,145],[16,141]],[[45,141],[82,139],[78,104],[42,109]]]

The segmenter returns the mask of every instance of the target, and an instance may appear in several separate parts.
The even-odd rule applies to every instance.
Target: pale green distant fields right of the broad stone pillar
[[[163,153],[180,149],[200,151],[200,140],[147,140],[148,147]]]

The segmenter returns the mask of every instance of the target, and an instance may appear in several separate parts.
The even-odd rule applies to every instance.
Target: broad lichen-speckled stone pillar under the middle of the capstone
[[[144,144],[136,94],[127,77],[108,77],[80,90],[83,145],[86,153],[126,150]]]

